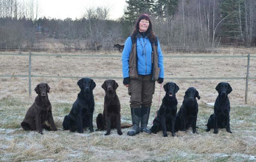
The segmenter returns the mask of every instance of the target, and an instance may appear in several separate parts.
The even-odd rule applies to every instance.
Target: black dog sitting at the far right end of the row
[[[218,128],[226,128],[226,131],[232,133],[229,125],[230,103],[228,94],[232,88],[226,82],[220,82],[215,88],[219,95],[214,103],[214,113],[210,115],[207,122],[207,132],[214,128],[213,133],[218,133]]]

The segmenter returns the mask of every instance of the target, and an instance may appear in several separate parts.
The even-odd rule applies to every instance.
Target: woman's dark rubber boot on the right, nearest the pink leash
[[[141,132],[145,133],[151,133],[151,130],[148,129],[148,118],[149,118],[149,113],[150,113],[150,107],[142,107],[141,108],[141,128],[139,130]]]

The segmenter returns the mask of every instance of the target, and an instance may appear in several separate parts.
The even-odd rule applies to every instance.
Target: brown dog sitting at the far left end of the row
[[[24,130],[38,131],[43,134],[43,128],[46,130],[57,131],[52,117],[52,106],[48,99],[50,87],[46,83],[40,83],[35,88],[36,99],[32,106],[28,109],[21,127]],[[46,122],[50,124],[47,125]]]

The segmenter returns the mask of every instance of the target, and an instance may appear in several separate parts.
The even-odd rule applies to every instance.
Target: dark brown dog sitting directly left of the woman
[[[104,110],[103,114],[99,113],[96,118],[97,128],[98,130],[106,130],[107,128],[105,135],[110,135],[111,129],[116,128],[117,134],[122,135],[120,101],[115,91],[118,84],[115,80],[106,80],[101,87],[105,90]],[[131,125],[122,126],[122,128],[128,127]]]

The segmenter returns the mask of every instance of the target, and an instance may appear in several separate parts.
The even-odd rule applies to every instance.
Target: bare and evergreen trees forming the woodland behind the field
[[[47,37],[73,47],[112,47],[123,44],[138,16],[147,13],[161,44],[216,47],[254,46],[255,0],[126,0],[124,15],[111,20],[110,6],[85,7],[80,19],[38,18],[37,0],[0,0],[0,47],[34,47]]]

